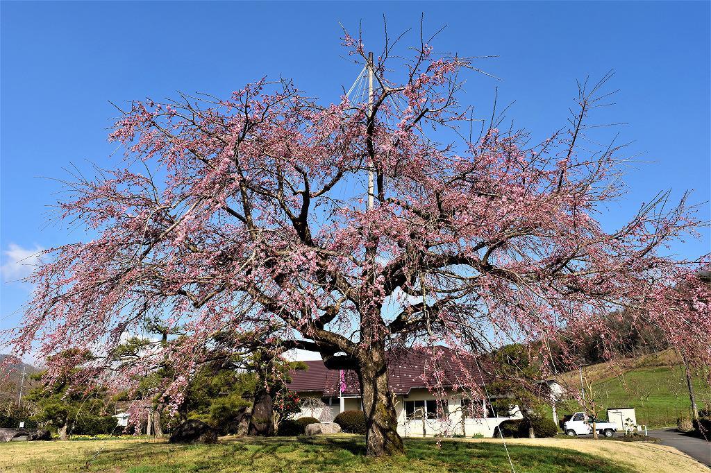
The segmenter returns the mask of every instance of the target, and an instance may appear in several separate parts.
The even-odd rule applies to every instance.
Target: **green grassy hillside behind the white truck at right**
[[[681,415],[690,416],[690,401],[681,360],[671,351],[624,360],[621,364],[595,364],[583,371],[592,381],[599,399],[599,415],[606,408],[634,407],[637,423],[651,428],[675,425]],[[579,371],[560,376],[569,387],[580,387]],[[711,387],[703,374],[693,382],[699,408],[711,408]],[[577,403],[567,402],[563,411],[575,411]]]

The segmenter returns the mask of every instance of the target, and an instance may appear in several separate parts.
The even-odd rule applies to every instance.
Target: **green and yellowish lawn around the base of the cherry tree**
[[[218,445],[105,440],[0,445],[8,472],[510,472],[501,443],[406,440],[403,456],[364,456],[362,436],[228,439]],[[98,455],[92,460],[99,448]],[[609,460],[554,447],[509,445],[518,472],[631,472]]]

